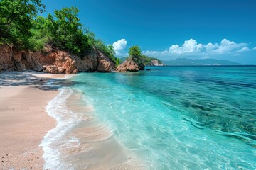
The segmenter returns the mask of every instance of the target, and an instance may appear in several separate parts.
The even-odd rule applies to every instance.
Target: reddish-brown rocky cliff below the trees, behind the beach
[[[93,49],[89,55],[77,57],[62,50],[44,47],[42,52],[11,50],[0,45],[0,70],[23,71],[32,69],[53,74],[76,74],[78,72],[110,72],[115,64],[100,50]]]

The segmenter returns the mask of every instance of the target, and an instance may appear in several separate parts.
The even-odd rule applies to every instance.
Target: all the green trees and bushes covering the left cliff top
[[[5,44],[16,50],[42,50],[46,44],[60,50],[84,57],[95,48],[100,50],[115,64],[113,47],[95,38],[82,26],[78,18],[78,8],[55,10],[54,15],[38,16],[45,6],[41,0],[1,0],[0,1],[0,45]]]

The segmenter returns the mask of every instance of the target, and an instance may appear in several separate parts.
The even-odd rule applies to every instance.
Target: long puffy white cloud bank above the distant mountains
[[[183,45],[171,45],[169,50],[164,51],[144,51],[145,55],[152,57],[211,57],[215,55],[238,55],[241,52],[249,51],[247,43],[235,43],[233,41],[223,39],[220,44],[209,42],[206,45],[190,39],[183,42]],[[254,48],[255,49],[255,48]]]

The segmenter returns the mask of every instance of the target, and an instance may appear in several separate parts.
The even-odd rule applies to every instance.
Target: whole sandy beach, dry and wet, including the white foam
[[[64,76],[0,74],[1,169],[144,169]]]

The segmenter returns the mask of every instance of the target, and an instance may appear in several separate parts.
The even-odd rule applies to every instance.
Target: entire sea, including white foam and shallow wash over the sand
[[[256,169],[256,67],[146,67],[50,80],[44,169]]]

